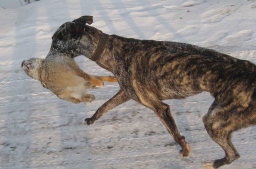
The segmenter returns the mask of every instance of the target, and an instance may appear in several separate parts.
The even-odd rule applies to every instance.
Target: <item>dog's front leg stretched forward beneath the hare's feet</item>
[[[122,91],[121,89],[109,99],[106,103],[104,103],[91,118],[85,119],[83,121],[84,125],[92,125],[96,122],[96,120],[100,119],[101,116],[106,114],[109,110],[113,109],[114,107],[121,105],[122,103],[130,100],[130,98]]]

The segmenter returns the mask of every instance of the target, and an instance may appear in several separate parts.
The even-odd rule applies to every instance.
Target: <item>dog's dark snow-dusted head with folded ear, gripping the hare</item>
[[[97,29],[86,24],[92,23],[92,16],[82,16],[62,24],[52,37],[50,53],[57,52],[71,57],[89,56],[93,47],[89,34],[93,35]]]

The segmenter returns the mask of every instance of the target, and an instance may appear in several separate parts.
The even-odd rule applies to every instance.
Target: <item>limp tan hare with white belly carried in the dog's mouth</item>
[[[30,58],[22,62],[21,68],[59,98],[73,103],[91,102],[95,97],[87,94],[88,88],[102,87],[102,81],[116,81],[110,76],[88,75],[68,56]]]

